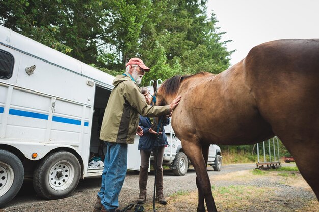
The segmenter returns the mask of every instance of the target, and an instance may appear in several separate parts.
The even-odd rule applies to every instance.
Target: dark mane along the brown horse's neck
[[[167,80],[165,80],[165,82],[161,85],[160,89],[161,92],[165,93],[166,95],[176,95],[176,93],[178,92],[178,89],[181,85],[181,83],[188,78],[191,77],[195,77],[199,74],[208,74],[208,72],[200,72],[197,74],[192,74],[192,75],[183,75],[183,76],[174,76],[172,78],[169,78]]]

